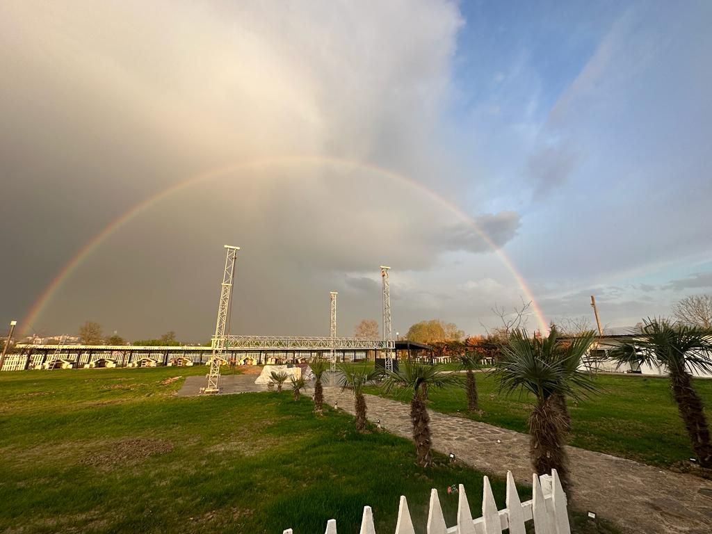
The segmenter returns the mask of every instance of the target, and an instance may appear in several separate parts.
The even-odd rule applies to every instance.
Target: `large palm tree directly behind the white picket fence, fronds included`
[[[580,399],[596,391],[590,372],[581,370],[588,366],[585,355],[594,339],[593,332],[562,342],[556,330],[543,338],[530,338],[515,330],[501,347],[500,360],[493,370],[501,391],[534,395],[536,404],[529,415],[532,465],[539,475],[556,469],[565,488],[570,486],[564,447],[568,426],[565,397]]]

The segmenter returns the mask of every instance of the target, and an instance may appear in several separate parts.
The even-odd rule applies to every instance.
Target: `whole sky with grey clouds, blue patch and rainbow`
[[[712,293],[712,3],[0,0],[0,325],[609,331]],[[4,327],[0,327],[4,328]]]

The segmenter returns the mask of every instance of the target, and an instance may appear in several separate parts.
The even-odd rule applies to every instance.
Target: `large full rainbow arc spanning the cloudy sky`
[[[405,177],[402,174],[397,174],[396,172],[393,172],[389,169],[376,167],[373,164],[355,162],[350,159],[338,159],[333,157],[286,157],[278,159],[261,159],[253,162],[220,167],[218,169],[210,169],[206,172],[202,172],[201,174],[189,177],[187,179],[184,179],[182,182],[178,182],[177,184],[167,187],[166,189],[163,189],[152,197],[149,197],[133,206],[131,209],[126,211],[125,214],[122,214],[121,216],[117,217],[117,219],[112,221],[102,231],[100,231],[92,239],[90,239],[90,241],[88,241],[87,244],[80,248],[80,250],[75,254],[75,256],[66,263],[66,265],[61,269],[61,271],[57,273],[57,275],[48,284],[42,294],[37,298],[35,303],[32,305],[32,308],[28,312],[26,318],[23,320],[22,335],[26,335],[26,331],[28,330],[28,328],[30,328],[31,325],[37,320],[37,318],[41,315],[46,306],[51,302],[51,299],[53,298],[57,290],[61,288],[62,284],[69,278],[69,276],[76,270],[76,268],[78,268],[78,266],[80,266],[81,263],[83,263],[83,261],[88,258],[91,253],[93,253],[93,251],[95,251],[99,246],[101,246],[101,244],[106,239],[108,239],[109,236],[114,234],[115,231],[120,229],[124,224],[133,219],[135,216],[154,206],[162,199],[169,197],[170,195],[179,192],[182,189],[192,187],[195,184],[198,184],[199,182],[204,182],[209,179],[215,179],[230,172],[242,171],[258,167],[276,167],[278,165],[288,164],[326,164],[338,167],[354,167],[357,169],[367,169],[371,172],[376,172],[377,174],[382,174],[385,177],[394,179],[397,182],[401,182],[402,184],[406,184],[414,189],[418,189],[423,194],[426,194],[431,199],[434,199],[439,204],[441,204],[441,206],[446,207],[454,214],[461,217],[461,219],[463,219],[467,224],[469,224],[482,237],[482,239],[484,239],[486,243],[491,246],[494,253],[496,253],[496,255],[500,258],[500,261],[504,264],[504,266],[506,266],[507,270],[511,273],[515,281],[518,283],[525,297],[531,301],[533,313],[539,323],[539,328],[542,331],[545,331],[548,328],[543,311],[536,302],[531,290],[526,284],[525,279],[523,278],[523,276],[521,276],[519,271],[517,271],[511,259],[506,255],[506,253],[504,253],[504,251],[501,250],[501,248],[496,246],[496,244],[489,238],[487,234],[485,234],[485,232],[480,229],[480,227],[476,224],[472,217],[462,211],[462,209],[460,209],[459,206],[456,206],[456,204],[453,204],[451,201],[444,199],[439,194],[432,191],[431,189],[428,189],[423,184],[416,182],[414,179],[409,179],[408,177]]]

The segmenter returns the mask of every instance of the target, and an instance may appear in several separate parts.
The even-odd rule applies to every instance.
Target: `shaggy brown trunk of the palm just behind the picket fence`
[[[570,487],[569,459],[564,448],[563,417],[557,402],[552,398],[540,399],[529,416],[532,466],[538,475],[550,475],[552,469],[559,473],[565,491]]]

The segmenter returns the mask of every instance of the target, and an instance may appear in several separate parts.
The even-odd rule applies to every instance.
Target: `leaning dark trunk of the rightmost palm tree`
[[[685,422],[687,434],[692,441],[700,465],[712,467],[712,444],[710,431],[703,411],[702,400],[692,387],[692,377],[689,373],[678,372],[670,375],[672,394]]]

